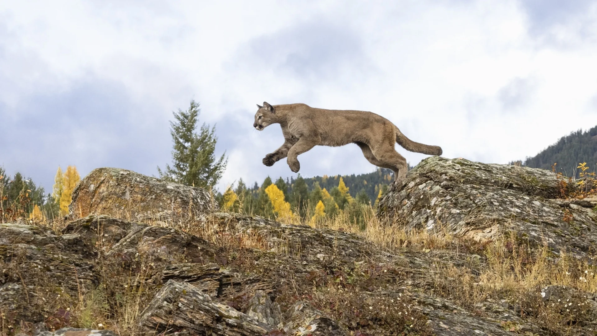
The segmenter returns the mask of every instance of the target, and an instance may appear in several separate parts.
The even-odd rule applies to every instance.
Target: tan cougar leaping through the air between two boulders
[[[272,106],[263,102],[257,107],[253,127],[263,130],[280,124],[284,135],[284,144],[263,158],[266,166],[288,157],[288,166],[296,173],[300,169],[297,156],[314,146],[356,143],[370,163],[392,169],[398,182],[406,176],[407,161],[396,152],[396,142],[409,151],[442,154],[439,146],[408,139],[391,121],[373,112],[312,108],[301,103]]]

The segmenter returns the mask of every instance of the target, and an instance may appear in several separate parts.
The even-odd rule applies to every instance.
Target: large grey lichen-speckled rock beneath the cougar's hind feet
[[[512,231],[553,252],[593,258],[597,199],[567,200],[570,192],[544,169],[429,157],[379,202],[388,225],[435,230],[479,241]]]

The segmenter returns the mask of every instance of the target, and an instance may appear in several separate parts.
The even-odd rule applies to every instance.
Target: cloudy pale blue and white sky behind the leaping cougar
[[[445,157],[524,159],[597,124],[595,1],[2,1],[0,165],[51,191],[58,166],[157,175],[172,111],[201,103],[219,188],[296,176],[261,158],[256,103],[372,111]],[[398,151],[411,164],[426,155]],[[318,146],[301,175],[375,169]]]

